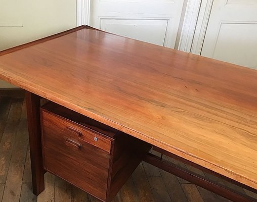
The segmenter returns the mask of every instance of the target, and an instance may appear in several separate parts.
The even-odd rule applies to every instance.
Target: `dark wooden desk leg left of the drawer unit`
[[[27,117],[29,146],[32,171],[32,187],[35,195],[40,194],[45,189],[44,174],[41,151],[41,131],[40,131],[40,97],[26,91]]]

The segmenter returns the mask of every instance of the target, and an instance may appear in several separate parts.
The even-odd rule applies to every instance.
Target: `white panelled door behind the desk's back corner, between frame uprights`
[[[90,25],[174,48],[183,3],[182,0],[92,0]]]

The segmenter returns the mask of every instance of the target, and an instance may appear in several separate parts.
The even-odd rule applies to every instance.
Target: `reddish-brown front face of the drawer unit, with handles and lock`
[[[44,110],[41,127],[45,169],[105,200],[113,140]]]

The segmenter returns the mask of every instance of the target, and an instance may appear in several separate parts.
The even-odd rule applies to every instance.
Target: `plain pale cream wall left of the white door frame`
[[[76,1],[0,0],[0,51],[76,26]],[[0,88],[14,87],[0,80]]]

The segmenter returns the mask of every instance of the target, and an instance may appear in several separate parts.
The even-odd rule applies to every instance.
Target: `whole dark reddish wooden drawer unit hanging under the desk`
[[[103,201],[116,195],[151,147],[52,102],[40,116],[44,168]]]

